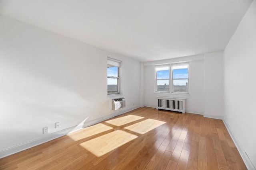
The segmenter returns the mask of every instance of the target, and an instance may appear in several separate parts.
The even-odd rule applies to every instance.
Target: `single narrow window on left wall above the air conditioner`
[[[120,93],[120,65],[121,62],[108,58],[107,84],[108,95]]]

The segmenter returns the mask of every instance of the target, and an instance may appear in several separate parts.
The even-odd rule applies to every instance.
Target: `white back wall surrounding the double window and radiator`
[[[190,62],[189,65],[189,95],[177,95],[155,92],[154,64],[175,62]],[[176,59],[144,63],[144,104],[156,107],[156,96],[186,98],[186,112],[204,113],[204,56],[181,57]]]

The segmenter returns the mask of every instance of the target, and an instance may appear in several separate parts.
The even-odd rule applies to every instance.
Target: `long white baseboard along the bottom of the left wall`
[[[134,109],[137,109],[139,107],[140,106],[133,107],[131,109],[122,109],[122,110],[120,110],[120,111],[118,111],[116,113],[113,113],[111,115],[100,117],[98,119],[94,119],[92,121],[88,121],[88,122],[85,122],[85,123],[80,123],[79,125],[76,125],[76,126],[73,126],[73,127],[69,127],[67,129],[63,129],[63,130],[58,131],[58,132],[46,134],[44,137],[41,137],[39,139],[28,141],[26,143],[22,143],[20,145],[16,145],[16,146],[10,147],[8,149],[0,150],[0,158],[4,158],[6,156],[9,156],[11,154],[20,152],[22,150],[26,150],[26,149],[35,147],[37,145],[40,145],[42,143],[46,143],[48,141],[52,141],[53,139],[56,139],[58,137],[62,137],[64,135],[67,135],[70,132],[74,132],[74,131],[79,130],[79,129],[83,128],[83,127],[88,127],[88,126],[94,125],[94,124],[99,123],[101,121],[104,121],[106,119],[110,119],[110,118],[115,117],[117,115],[121,115],[121,114],[126,113],[128,111],[132,111]]]

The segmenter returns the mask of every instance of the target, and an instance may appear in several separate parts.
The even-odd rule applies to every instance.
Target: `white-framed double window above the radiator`
[[[188,93],[188,63],[156,66],[156,92]]]

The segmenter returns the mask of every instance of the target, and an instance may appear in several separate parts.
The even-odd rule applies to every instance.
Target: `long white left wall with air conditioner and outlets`
[[[0,37],[0,157],[50,133],[140,106],[138,61],[2,16]],[[107,96],[107,57],[122,61],[126,108],[118,112]],[[47,126],[49,134],[42,134]]]

